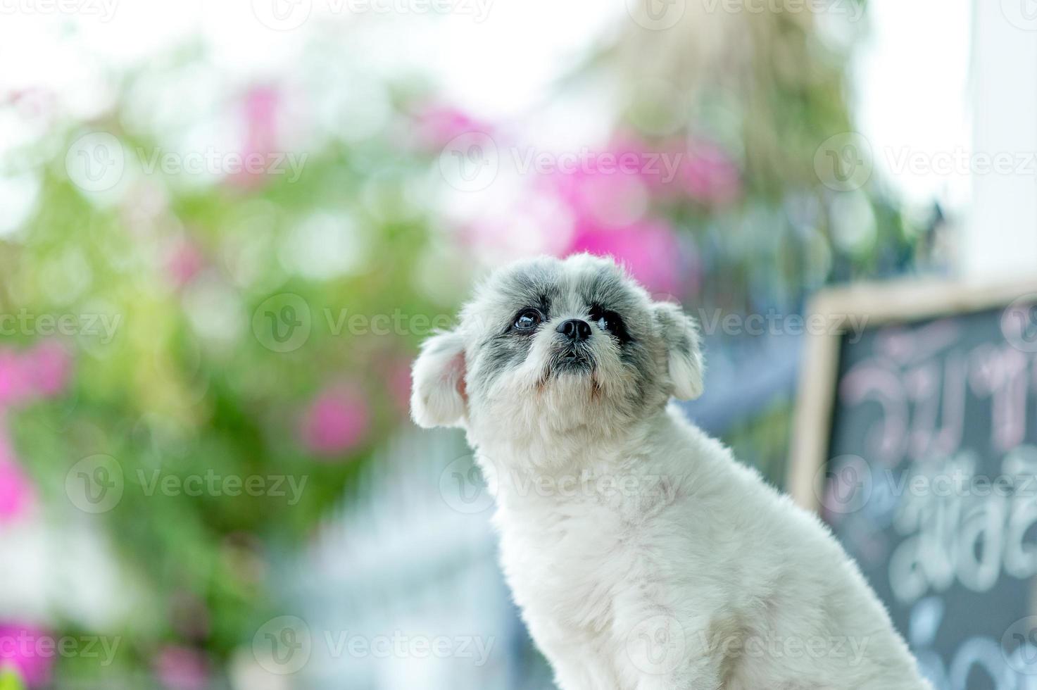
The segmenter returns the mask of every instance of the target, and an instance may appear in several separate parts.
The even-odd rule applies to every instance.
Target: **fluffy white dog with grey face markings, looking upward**
[[[559,687],[928,688],[820,521],[667,406],[701,390],[694,321],[589,255],[497,272],[422,348],[414,419],[467,431]]]

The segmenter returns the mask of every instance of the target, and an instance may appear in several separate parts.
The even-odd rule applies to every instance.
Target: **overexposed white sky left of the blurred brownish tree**
[[[12,11],[48,2],[82,9]],[[429,16],[347,9],[358,3],[384,8],[442,2],[457,10]],[[253,10],[263,3],[310,6],[309,19],[298,28],[272,30]],[[348,22],[364,27],[351,35],[372,73],[421,70],[435,75],[454,102],[509,118],[535,106],[553,79],[624,18],[622,0],[0,0],[0,58],[8,67],[0,86],[72,81],[68,73],[78,71],[67,59],[77,54],[73,45],[102,63],[127,65],[197,35],[216,49],[221,70],[281,74],[308,37]]]

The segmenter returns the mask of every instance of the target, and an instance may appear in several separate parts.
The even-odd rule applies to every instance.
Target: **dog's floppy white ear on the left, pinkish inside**
[[[419,426],[456,426],[465,418],[465,341],[456,331],[421,344],[411,369],[411,417]]]

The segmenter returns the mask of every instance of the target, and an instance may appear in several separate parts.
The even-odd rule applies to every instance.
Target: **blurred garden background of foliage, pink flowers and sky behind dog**
[[[957,270],[974,9],[904,4],[0,5],[0,688],[550,687],[417,346],[612,254],[782,485],[810,296]]]

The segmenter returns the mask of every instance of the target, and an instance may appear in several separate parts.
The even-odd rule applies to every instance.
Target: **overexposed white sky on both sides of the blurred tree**
[[[56,88],[78,114],[103,108],[97,70],[132,64],[201,35],[219,68],[231,75],[283,74],[307,38],[338,22],[362,24],[354,59],[372,75],[413,68],[435,75],[446,100],[491,120],[537,117],[546,139],[586,140],[607,123],[591,112],[553,117],[540,111],[548,88],[596,37],[629,21],[624,0],[425,0],[457,11],[351,12],[345,7],[420,7],[419,0],[0,0],[0,92],[10,87]],[[693,1],[693,0],[689,0]],[[67,3],[72,15],[41,12],[41,3]],[[275,5],[274,3],[279,3]],[[938,198],[965,205],[964,176],[898,169],[914,153],[968,148],[971,0],[870,0],[871,37],[857,65],[857,112],[878,168],[917,203]],[[298,28],[272,30],[272,8]],[[12,10],[18,11],[12,11]],[[341,34],[338,34],[341,35]],[[351,32],[349,35],[353,34]],[[75,36],[75,37],[72,37]],[[3,135],[0,134],[0,149]],[[550,141],[540,141],[550,145]]]

